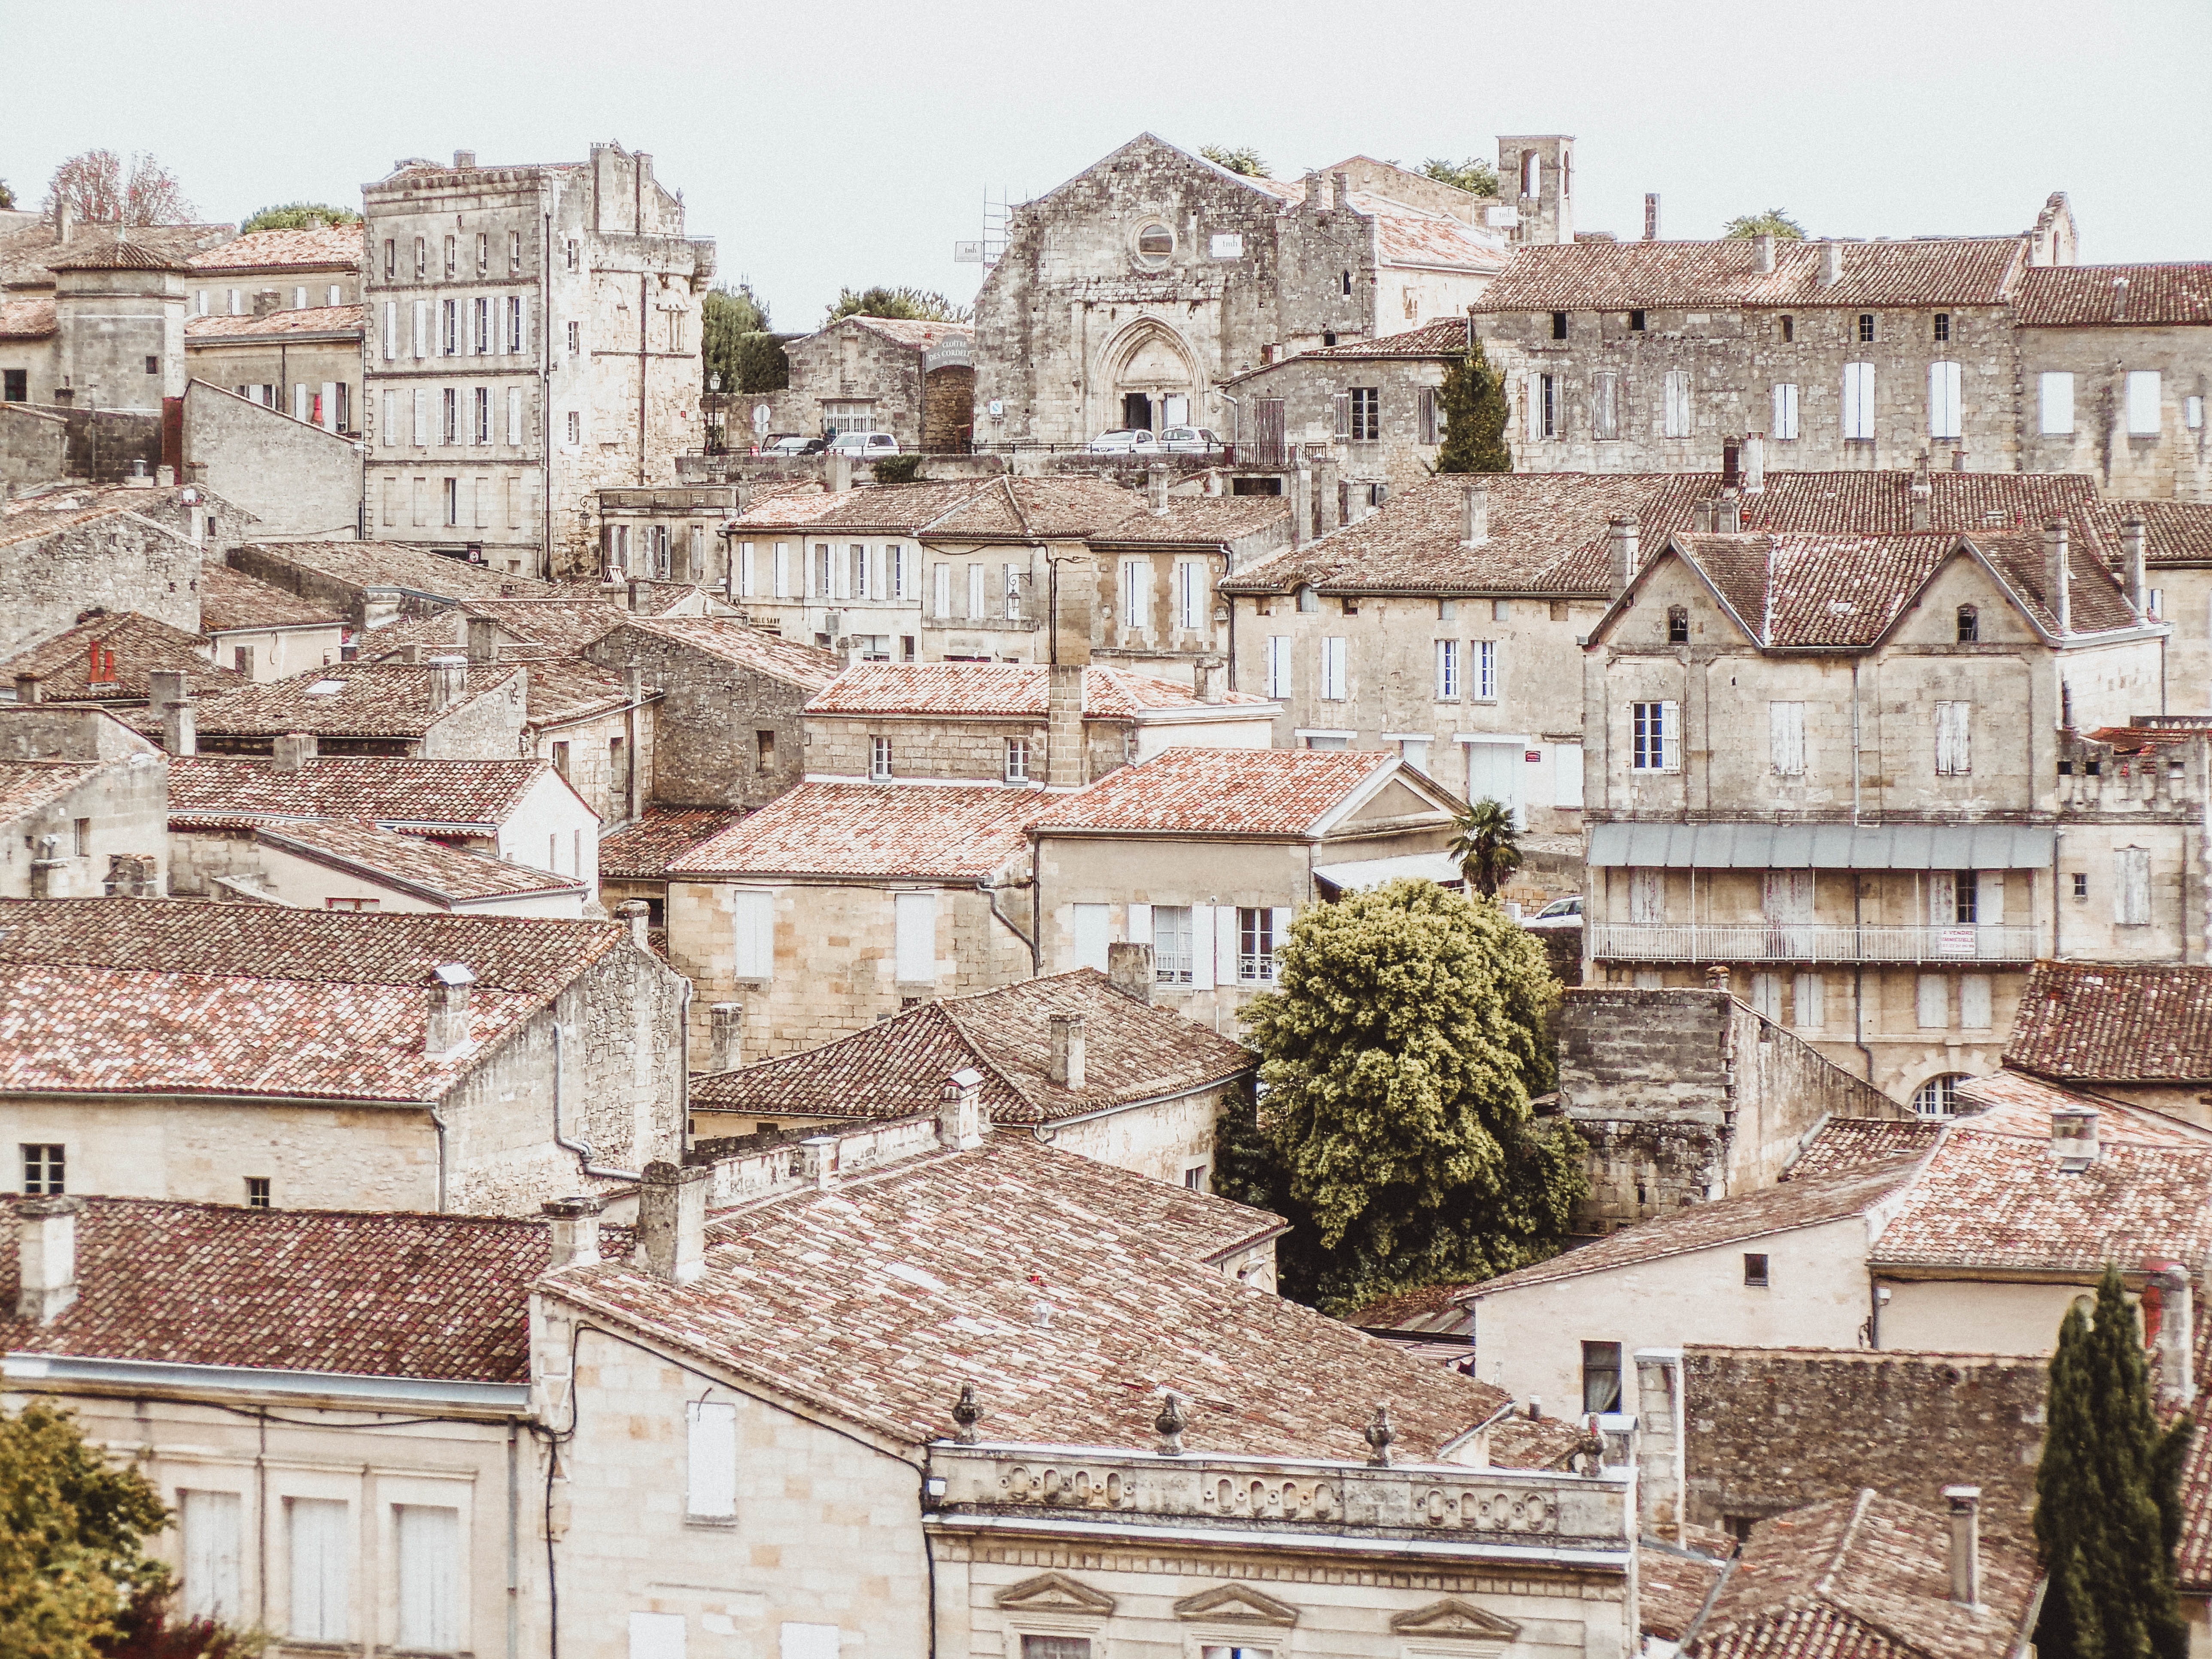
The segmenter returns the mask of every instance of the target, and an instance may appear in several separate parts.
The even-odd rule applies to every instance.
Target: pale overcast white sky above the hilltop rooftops
[[[1495,159],[1577,137],[1577,228],[1708,237],[2024,230],[2073,197],[2088,261],[2212,259],[2205,0],[787,0],[11,9],[0,179],[153,150],[204,217],[361,206],[405,155],[653,150],[781,330],[841,283],[973,296],[987,190],[1042,195],[1135,133]]]

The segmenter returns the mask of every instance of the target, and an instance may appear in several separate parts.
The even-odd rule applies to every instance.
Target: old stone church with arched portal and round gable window
[[[975,296],[975,440],[1079,445],[1190,422],[1281,449],[1281,434],[1239,420],[1223,383],[1464,312],[1504,270],[1504,234],[1471,217],[1349,173],[1252,179],[1150,133],[1130,139],[1015,208]]]

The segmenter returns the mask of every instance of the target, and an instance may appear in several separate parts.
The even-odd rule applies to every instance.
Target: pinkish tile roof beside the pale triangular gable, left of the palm
[[[1166,750],[1060,796],[1033,823],[1046,834],[1307,836],[1345,796],[1394,765],[1394,754],[1374,750]]]

